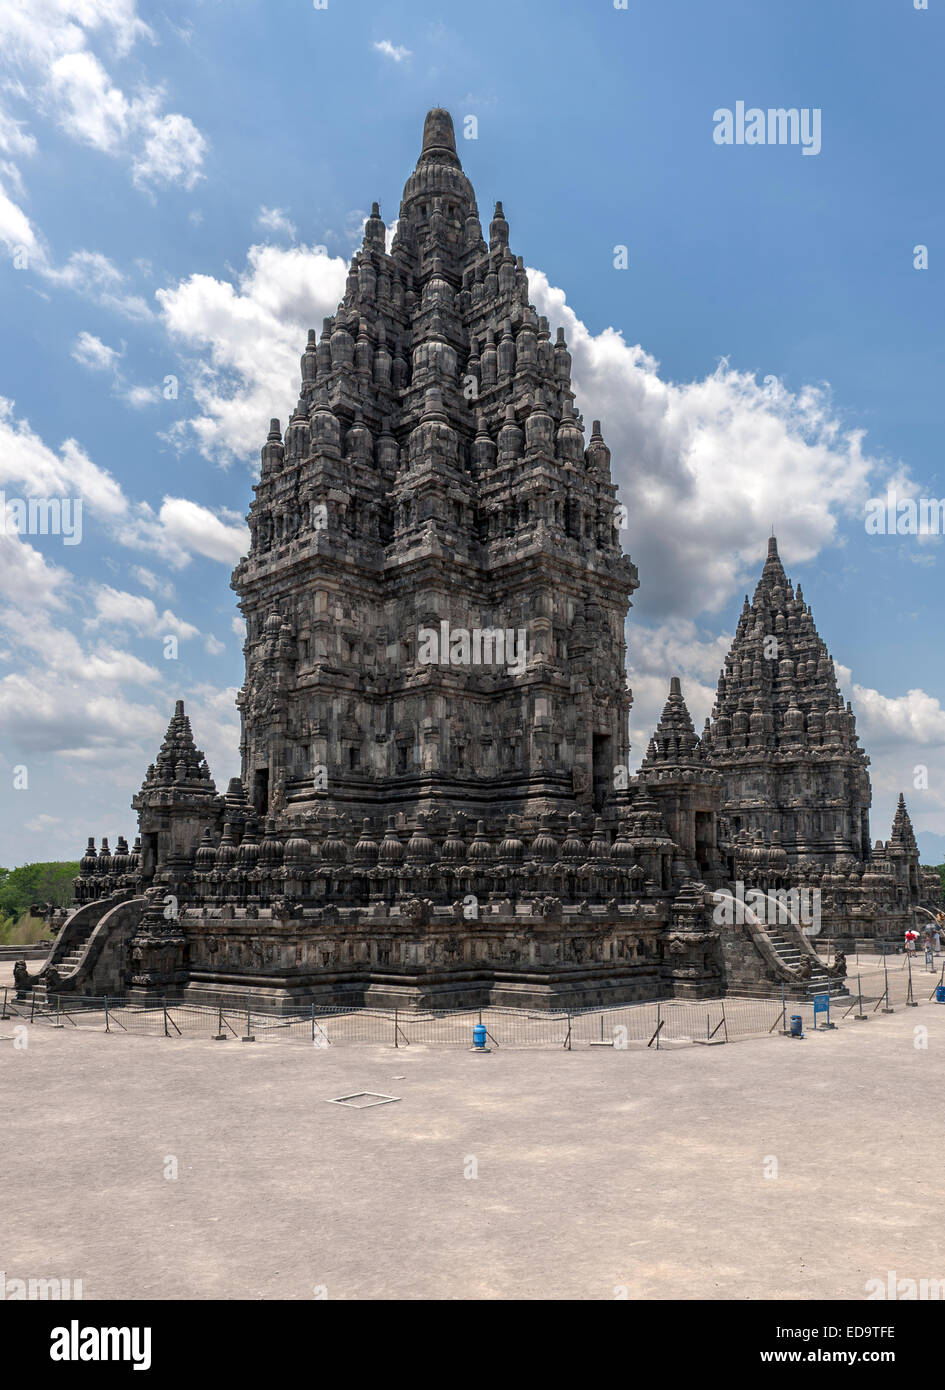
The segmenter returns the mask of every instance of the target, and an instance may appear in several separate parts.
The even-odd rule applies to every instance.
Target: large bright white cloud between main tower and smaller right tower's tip
[[[634,602],[648,619],[718,612],[756,577],[773,520],[785,563],[812,560],[902,474],[864,452],[828,386],[791,392],[728,363],[700,381],[663,381],[616,329],[591,334],[541,271],[528,281],[539,311],[566,329],[585,416],[603,423],[641,573]]]

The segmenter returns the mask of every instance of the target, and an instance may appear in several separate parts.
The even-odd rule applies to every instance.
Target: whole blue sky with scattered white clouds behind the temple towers
[[[132,834],[178,695],[217,783],[238,770],[258,446],[435,104],[477,118],[479,214],[503,200],[614,452],[636,753],[674,673],[702,723],[774,524],[873,834],[903,790],[941,859],[942,542],[863,518],[891,478],[945,495],[944,10],[0,0],[0,488],[83,498],[79,545],[0,537],[0,862]],[[739,100],[820,110],[820,153],[717,145]]]

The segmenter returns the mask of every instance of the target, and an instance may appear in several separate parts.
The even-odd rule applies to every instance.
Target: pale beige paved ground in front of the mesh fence
[[[945,1277],[935,1005],[659,1055],[26,1038],[0,1041],[8,1279],[81,1277],[88,1298],[767,1300]],[[361,1090],[400,1099],[327,1104]]]

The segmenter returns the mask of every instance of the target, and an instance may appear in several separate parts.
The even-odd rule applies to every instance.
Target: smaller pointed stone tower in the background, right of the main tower
[[[870,858],[869,758],[837,687],[800,585],[777,541],[742,616],[702,738],[723,776],[721,813],[732,841],[775,833],[792,866],[817,872]]]

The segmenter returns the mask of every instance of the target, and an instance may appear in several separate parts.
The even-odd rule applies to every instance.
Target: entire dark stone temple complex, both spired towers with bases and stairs
[[[630,776],[638,575],[610,450],[500,203],[488,231],[434,110],[391,249],[375,203],[263,445],[232,580],[240,777],[217,790],[179,702],[138,842],[89,841],[24,988],[272,1008],[799,997],[842,988],[816,933],[901,940],[935,903],[902,799],[870,845],[869,759],[774,539],[702,737],[674,677]],[[785,912],[720,913],[743,887]]]

